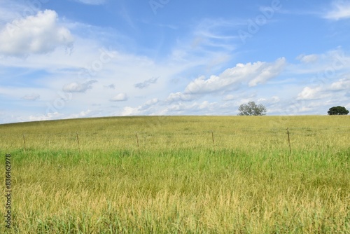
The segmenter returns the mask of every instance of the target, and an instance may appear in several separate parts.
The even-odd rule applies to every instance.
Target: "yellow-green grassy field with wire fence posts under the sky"
[[[350,116],[18,123],[0,153],[0,233],[350,233]]]

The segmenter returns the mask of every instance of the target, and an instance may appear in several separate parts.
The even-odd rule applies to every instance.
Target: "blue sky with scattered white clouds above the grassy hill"
[[[350,109],[350,1],[0,0],[0,123]]]

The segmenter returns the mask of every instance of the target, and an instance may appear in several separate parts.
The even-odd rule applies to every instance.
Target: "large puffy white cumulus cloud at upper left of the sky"
[[[39,11],[36,15],[8,23],[0,31],[0,53],[10,56],[43,54],[59,46],[71,47],[69,29],[59,26],[55,11]]]

